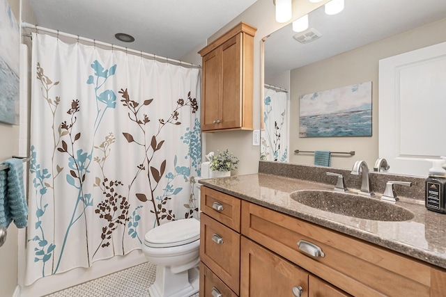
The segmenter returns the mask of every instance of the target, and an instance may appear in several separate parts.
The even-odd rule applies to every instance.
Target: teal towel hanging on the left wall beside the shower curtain
[[[8,227],[14,220],[17,228],[28,225],[28,207],[24,195],[23,162],[21,159],[8,159],[7,170],[0,171],[0,225]]]

